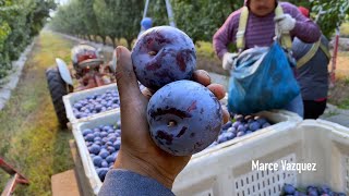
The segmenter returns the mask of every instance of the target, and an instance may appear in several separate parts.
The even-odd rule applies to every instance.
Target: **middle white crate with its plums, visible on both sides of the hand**
[[[210,150],[222,149],[227,145],[243,142],[268,131],[279,130],[282,126],[287,127],[291,120],[292,115],[281,111],[261,112],[255,115],[244,117],[233,115],[230,122],[222,125],[220,135],[216,140],[205,150],[195,154],[193,158],[198,155],[206,156]],[[238,134],[230,137],[227,133]],[[95,193],[98,193],[106,173],[118,159],[118,151],[121,146],[120,111],[113,110],[109,113],[92,117],[88,121],[73,124],[73,135],[82,157],[85,175],[89,181],[91,187]]]

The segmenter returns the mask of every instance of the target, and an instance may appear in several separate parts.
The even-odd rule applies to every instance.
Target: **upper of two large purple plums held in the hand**
[[[190,79],[196,68],[192,39],[171,26],[157,26],[144,32],[132,49],[137,79],[157,90],[174,81]]]

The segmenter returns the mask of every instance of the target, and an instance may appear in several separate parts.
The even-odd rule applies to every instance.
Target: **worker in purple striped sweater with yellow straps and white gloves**
[[[291,3],[277,0],[245,0],[244,3],[245,7],[229,15],[213,38],[215,51],[222,60],[225,70],[231,70],[233,59],[238,56],[228,51],[229,44],[237,44],[240,52],[253,47],[269,47],[274,42],[276,27],[279,32],[289,33],[291,38],[298,37],[304,42],[315,42],[321,36],[317,25],[302,15]],[[245,26],[239,26],[243,10],[248,11],[248,21]],[[276,15],[276,11],[279,10],[282,14]],[[244,30],[239,30],[239,27]],[[303,117],[301,95],[285,109]]]

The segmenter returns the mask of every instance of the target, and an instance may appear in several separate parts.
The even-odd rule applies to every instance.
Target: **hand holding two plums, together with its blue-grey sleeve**
[[[117,83],[121,109],[121,148],[115,167],[106,175],[99,196],[112,195],[174,195],[171,192],[176,176],[188,164],[191,156],[172,156],[165,152],[151,138],[149,125],[146,120],[146,107],[149,91],[140,90],[133,71],[131,52],[118,47]],[[208,85],[217,99],[222,99],[222,85],[209,85],[208,73],[195,71],[193,78]],[[146,96],[145,96],[146,95]],[[224,112],[227,122],[229,114]],[[226,123],[224,122],[224,123]]]

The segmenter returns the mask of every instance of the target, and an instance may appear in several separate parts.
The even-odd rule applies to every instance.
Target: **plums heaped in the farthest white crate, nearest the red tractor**
[[[120,107],[119,93],[108,89],[106,93],[89,95],[73,105],[73,113],[76,119],[86,118],[95,113],[105,112]]]

